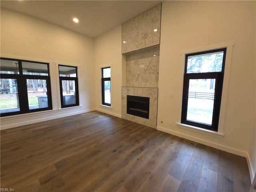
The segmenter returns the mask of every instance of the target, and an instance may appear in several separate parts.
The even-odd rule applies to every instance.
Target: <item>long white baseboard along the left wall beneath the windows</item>
[[[18,126],[24,126],[24,125],[28,125],[28,124],[38,123],[38,122],[42,122],[42,121],[62,118],[62,117],[66,117],[66,116],[71,116],[71,115],[76,115],[76,114],[81,114],[81,113],[86,113],[86,112],[91,112],[91,111],[95,111],[95,109],[88,109],[88,110],[82,110],[82,111],[78,111],[78,112],[71,112],[71,113],[66,113],[66,114],[62,114],[62,115],[52,115],[52,116],[45,117],[45,118],[36,118],[36,119],[33,119],[33,120],[28,120],[28,121],[23,121],[23,122],[16,122],[16,123],[4,125],[4,126],[1,125],[0,130],[14,128],[14,127],[18,127]],[[53,112],[56,113],[56,110],[52,111],[52,112],[48,112],[48,114],[53,113]],[[28,114],[28,115],[31,115],[31,114]],[[40,115],[38,114],[38,116],[40,116]],[[17,117],[14,117],[14,118],[17,119]],[[19,118],[25,118],[25,116],[19,117]]]

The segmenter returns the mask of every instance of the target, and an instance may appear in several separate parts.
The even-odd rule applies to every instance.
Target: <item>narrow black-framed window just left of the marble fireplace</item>
[[[102,68],[102,104],[111,106],[110,67]]]

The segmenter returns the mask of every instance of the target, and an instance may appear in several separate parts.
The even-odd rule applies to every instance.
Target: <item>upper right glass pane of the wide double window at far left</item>
[[[48,76],[48,65],[42,63],[22,62],[22,73],[24,75]]]

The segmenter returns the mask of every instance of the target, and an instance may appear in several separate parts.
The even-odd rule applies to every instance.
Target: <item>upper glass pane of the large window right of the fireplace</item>
[[[223,51],[188,56],[187,73],[221,72]]]

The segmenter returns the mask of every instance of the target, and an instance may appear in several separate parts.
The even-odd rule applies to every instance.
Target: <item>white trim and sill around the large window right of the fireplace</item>
[[[221,98],[221,104],[220,104],[220,118],[219,118],[219,124],[218,124],[218,132],[202,129],[202,128],[195,127],[195,126],[189,126],[187,124],[182,124],[182,123],[178,122],[177,125],[179,127],[186,128],[189,130],[194,130],[196,132],[200,132],[203,134],[207,133],[212,136],[218,136],[218,137],[224,136],[224,124],[225,124],[225,116],[226,116],[226,104],[227,104],[227,98],[228,98],[228,84],[229,84],[229,77],[230,77],[233,46],[234,46],[234,42],[224,42],[224,43],[214,44],[214,45],[210,45],[210,46],[203,46],[203,47],[194,48],[194,49],[182,50],[180,52],[180,65],[183,66],[182,71],[181,71],[181,77],[182,77],[182,81],[183,81],[186,54],[203,52],[203,51],[220,49],[220,48],[227,48],[225,70],[224,70],[224,80],[223,80],[223,86],[222,86],[222,98]],[[183,84],[184,84],[184,82],[182,82],[182,86],[183,86]],[[183,90],[183,88],[182,88],[182,90]],[[183,95],[183,94],[181,94],[181,95]],[[182,106],[182,100],[180,100],[180,101],[181,101],[180,106]],[[181,111],[182,111],[182,107],[180,107],[180,120],[181,120]]]

